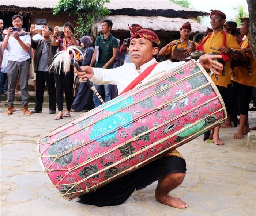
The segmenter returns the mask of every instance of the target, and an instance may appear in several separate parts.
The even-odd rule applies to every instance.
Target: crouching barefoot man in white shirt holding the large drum
[[[84,66],[82,67],[82,72],[77,72],[79,78],[82,78],[83,81],[89,78],[99,85],[117,85],[120,94],[141,72],[154,65],[157,62],[154,57],[158,54],[158,46],[160,44],[157,34],[138,25],[133,26],[131,32],[129,53],[132,63],[125,63],[116,69]],[[221,63],[213,61],[216,58],[221,58],[221,55],[203,55],[199,61],[205,69],[211,69],[219,74],[216,70],[222,70],[223,67]],[[163,72],[170,71],[182,63],[184,62],[172,63],[163,61],[158,63],[142,83],[153,76],[159,76]],[[135,189],[143,189],[158,180],[158,185],[155,189],[156,199],[165,205],[186,208],[187,204],[184,201],[169,195],[171,190],[182,183],[185,172],[186,162],[184,158],[177,150],[173,150],[140,169],[98,188],[95,192],[80,196],[79,202],[97,206],[120,205],[131,196]]]

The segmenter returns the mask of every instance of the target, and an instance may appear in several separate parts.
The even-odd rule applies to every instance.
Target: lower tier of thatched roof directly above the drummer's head
[[[193,19],[182,19],[182,18],[169,18],[163,16],[127,16],[127,15],[116,15],[107,16],[104,19],[110,19],[113,22],[112,31],[129,31],[128,24],[140,24],[143,28],[150,28],[154,31],[179,31],[180,27],[187,21],[190,22],[192,33],[205,32],[206,27],[197,23]],[[101,33],[101,20],[98,20],[92,25],[92,31],[94,34]]]

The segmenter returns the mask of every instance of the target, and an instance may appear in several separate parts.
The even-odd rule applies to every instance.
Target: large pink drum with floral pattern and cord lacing
[[[225,119],[216,86],[192,60],[41,136],[39,160],[53,186],[71,200]]]

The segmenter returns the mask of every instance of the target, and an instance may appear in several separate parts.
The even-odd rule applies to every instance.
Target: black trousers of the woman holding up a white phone
[[[71,105],[73,102],[73,82],[74,82],[74,73],[73,67],[70,67],[70,71],[67,74],[64,74],[62,71],[60,74],[54,72],[54,80],[56,84],[56,97],[57,97],[57,105],[58,111],[63,110],[63,100],[64,100],[64,93],[63,87],[65,89],[65,96],[66,96],[66,107],[67,110],[71,110]]]

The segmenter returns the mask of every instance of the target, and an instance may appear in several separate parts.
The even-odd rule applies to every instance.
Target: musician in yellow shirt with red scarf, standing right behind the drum
[[[226,21],[225,13],[218,10],[211,10],[210,19],[213,32],[204,38],[203,42],[197,46],[197,49],[204,51],[204,53],[214,51],[222,54],[223,60],[225,61],[225,68],[222,71],[218,71],[220,75],[212,76],[211,78],[217,86],[227,107],[230,96],[227,85],[231,78],[229,75],[231,58],[243,59],[244,53],[234,36],[226,34],[226,32],[223,31],[223,24]],[[212,47],[218,50],[211,49]],[[219,128],[220,126],[215,127],[211,136],[210,134],[208,135],[208,138],[212,139],[217,145],[223,145],[224,142],[219,139]],[[207,137],[205,139],[207,139]]]

